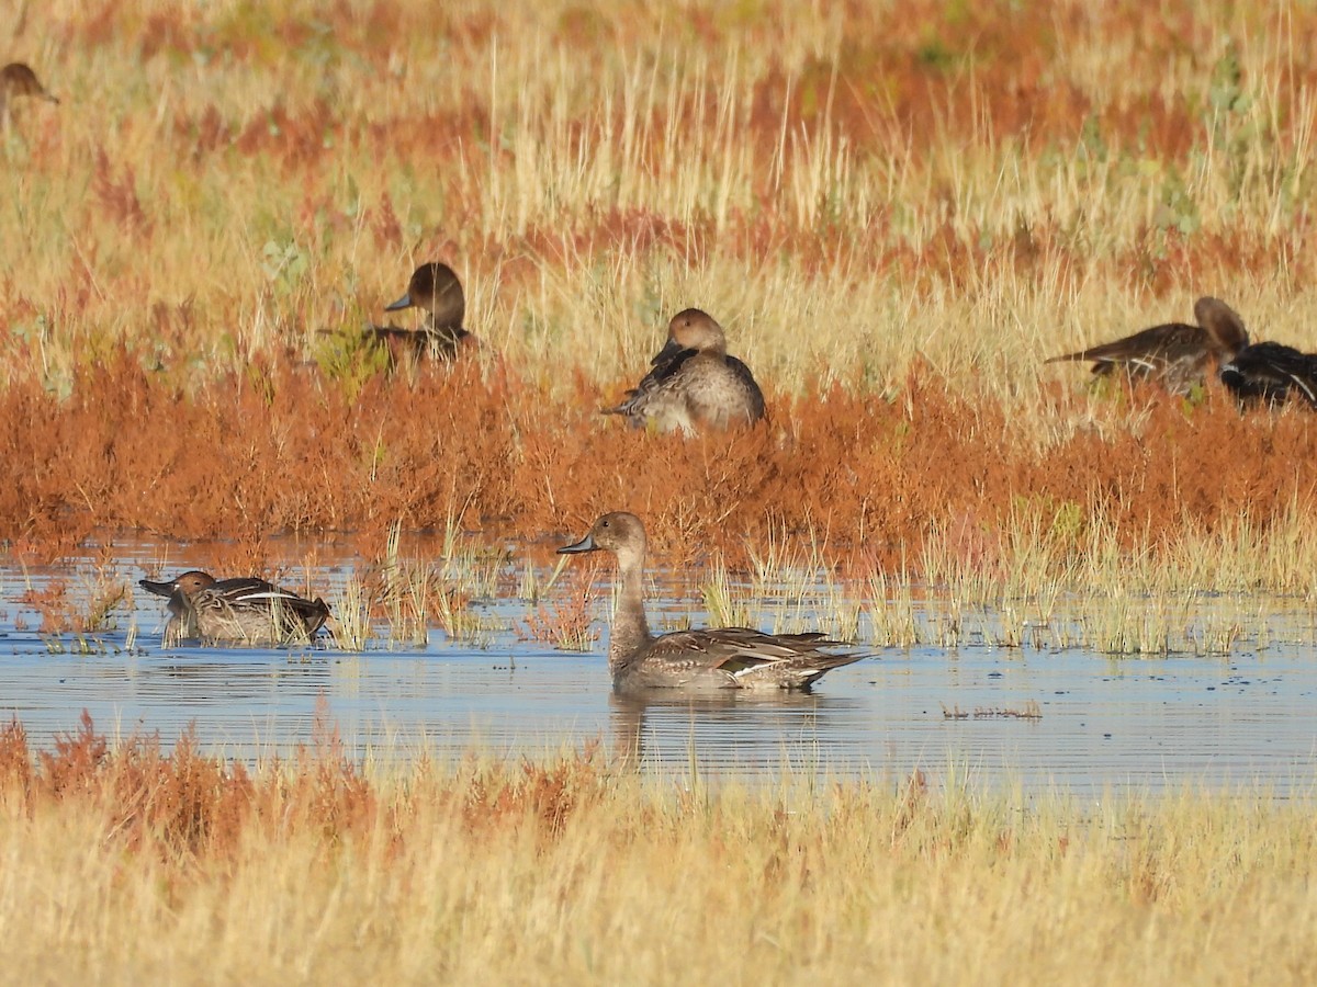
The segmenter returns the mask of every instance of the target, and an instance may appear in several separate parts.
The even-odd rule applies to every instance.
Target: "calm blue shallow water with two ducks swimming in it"
[[[117,575],[154,576],[158,566],[134,561],[149,565],[153,553],[163,557],[158,546],[134,546]],[[327,565],[312,582],[332,601],[352,566]],[[641,770],[677,775],[776,778],[785,765],[820,778],[923,770],[934,779],[1089,794],[1188,782],[1260,783],[1280,795],[1309,791],[1317,779],[1317,662],[1303,644],[1159,659],[986,645],[874,649],[811,695],[640,700],[611,692],[606,637],[589,654],[518,640],[512,622],[525,619],[528,604],[516,599],[471,603],[478,646],[431,630],[424,646],[377,640],[360,654],[324,640],[291,650],[163,649],[162,601],[145,594],[134,609],[115,613],[117,629],[86,638],[34,630],[41,617],[22,596],[61,576],[0,565],[0,713],[17,716],[38,747],[74,730],[86,708],[112,736],[158,732],[167,745],[195,724],[203,747],[255,761],[309,741],[323,697],[361,758],[421,749],[457,755],[473,746],[544,754],[602,738]],[[607,609],[601,594],[595,615]],[[702,621],[689,596],[653,601],[651,613],[656,624]],[[1029,703],[1040,716],[1010,715]],[[965,716],[948,716],[954,711]]]

